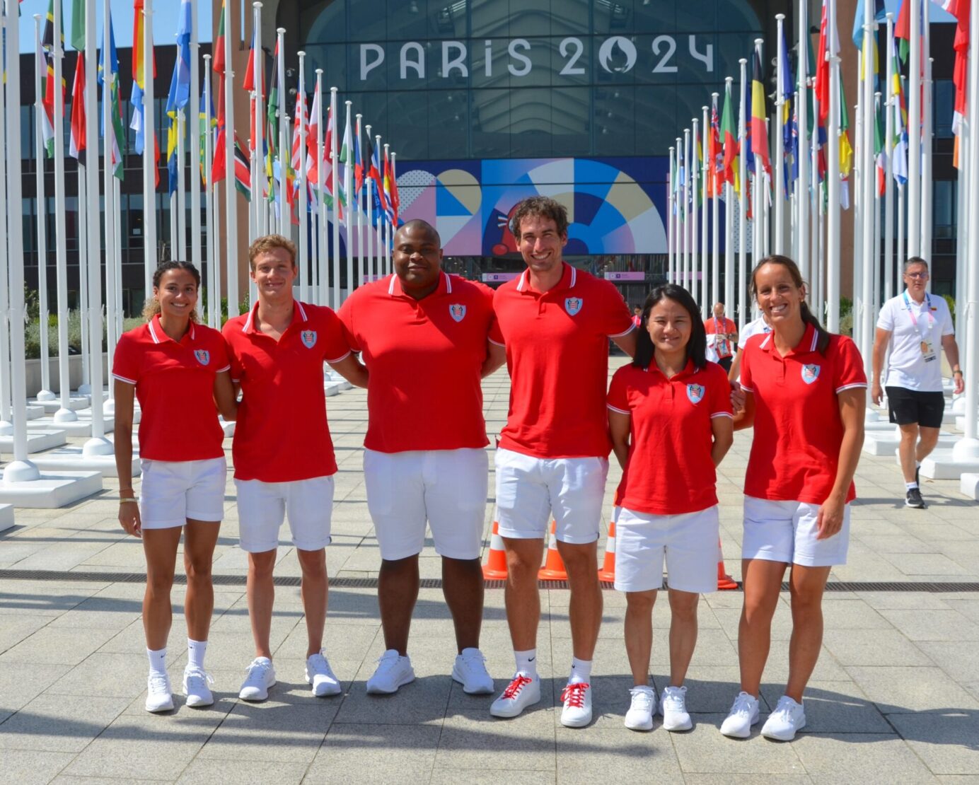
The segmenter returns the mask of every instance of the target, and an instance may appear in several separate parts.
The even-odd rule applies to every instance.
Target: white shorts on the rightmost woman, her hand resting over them
[[[850,505],[843,508],[843,527],[828,539],[816,539],[818,514],[818,504],[745,496],[741,558],[803,567],[846,564],[850,545]]]

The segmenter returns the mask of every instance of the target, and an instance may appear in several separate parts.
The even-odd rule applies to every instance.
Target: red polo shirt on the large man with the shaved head
[[[480,386],[493,319],[489,287],[442,273],[439,288],[415,300],[389,275],[356,289],[339,316],[370,371],[365,447],[403,452],[489,443]]]

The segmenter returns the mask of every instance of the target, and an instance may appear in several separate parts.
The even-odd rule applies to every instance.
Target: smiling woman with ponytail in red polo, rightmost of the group
[[[749,339],[741,364],[745,406],[734,428],[755,429],[744,488],[741,692],[721,732],[747,738],[758,721],[771,618],[791,567],[788,683],[762,728],[763,736],[790,741],[806,724],[803,691],[822,644],[826,579],[846,563],[866,376],[854,342],[826,332],[810,312],[792,259],[762,259],[751,289],[771,332]]]

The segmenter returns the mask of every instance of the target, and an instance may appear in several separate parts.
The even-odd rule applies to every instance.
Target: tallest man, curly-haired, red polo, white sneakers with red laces
[[[510,411],[496,450],[496,507],[507,552],[506,615],[517,672],[493,716],[517,716],[540,699],[537,569],[547,524],[571,584],[571,676],[561,722],[591,720],[591,658],[601,623],[598,522],[611,442],[605,396],[609,339],[629,355],[635,327],[614,285],[562,258],[567,210],[546,197],[525,200],[512,226],[527,263],[493,297],[490,341],[505,346]]]

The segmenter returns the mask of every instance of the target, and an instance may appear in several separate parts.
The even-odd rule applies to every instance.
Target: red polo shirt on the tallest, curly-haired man
[[[493,296],[489,340],[506,346],[510,411],[499,446],[538,458],[605,457],[610,338],[635,329],[615,285],[570,264],[549,292],[527,270]]]

